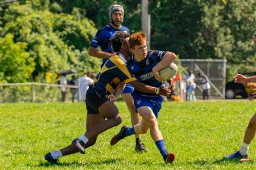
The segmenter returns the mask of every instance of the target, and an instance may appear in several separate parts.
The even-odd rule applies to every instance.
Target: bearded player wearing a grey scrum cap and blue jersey
[[[125,11],[121,5],[112,5],[109,7],[109,20],[110,23],[105,27],[99,29],[96,36],[92,40],[92,44],[88,49],[88,54],[93,57],[102,58],[101,67],[104,63],[115,53],[112,49],[109,39],[115,35],[115,32],[124,32],[130,35],[130,30],[127,27],[122,26]],[[100,46],[101,50],[97,49]],[[126,84],[122,93],[122,98],[125,101],[127,108],[131,114],[131,124],[135,125],[140,122],[139,114],[135,111],[133,97],[131,92],[134,88],[130,84]],[[141,135],[135,135],[136,146],[135,151],[143,152],[148,151],[147,148],[141,142]]]

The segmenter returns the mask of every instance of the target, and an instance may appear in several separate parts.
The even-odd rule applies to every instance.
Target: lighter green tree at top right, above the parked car
[[[228,60],[228,76],[255,71],[256,48],[251,41],[256,28],[256,2],[218,1],[204,4],[203,29],[211,30],[216,58]]]

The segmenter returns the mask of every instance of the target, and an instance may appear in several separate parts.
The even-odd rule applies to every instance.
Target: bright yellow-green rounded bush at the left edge
[[[26,82],[34,71],[35,62],[26,52],[26,42],[14,42],[11,33],[0,37],[0,82]]]

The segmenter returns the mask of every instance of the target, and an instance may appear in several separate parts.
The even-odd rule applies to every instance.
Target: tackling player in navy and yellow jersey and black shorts
[[[120,113],[113,101],[117,100],[122,93],[125,83],[130,83],[138,91],[152,95],[169,96],[171,94],[170,89],[148,86],[139,82],[130,73],[126,67],[125,59],[129,57],[130,49],[124,33],[117,33],[112,42],[114,50],[118,53],[105,62],[86,92],[86,133],[74,139],[71,145],[46,154],[44,158],[48,162],[56,163],[62,156],[76,152],[85,154],[85,148],[96,143],[98,134],[121,124]]]

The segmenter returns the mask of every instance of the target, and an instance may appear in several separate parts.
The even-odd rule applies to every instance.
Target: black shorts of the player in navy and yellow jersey
[[[92,86],[90,86],[86,92],[85,98],[87,114],[98,113],[98,108],[106,101],[108,101],[106,96],[98,95],[96,90]]]

